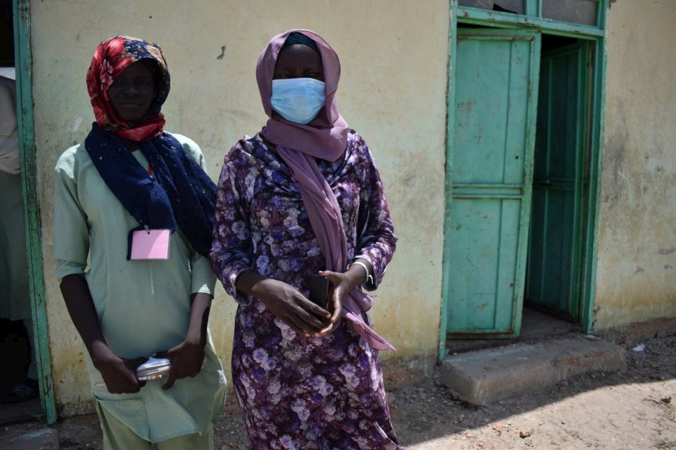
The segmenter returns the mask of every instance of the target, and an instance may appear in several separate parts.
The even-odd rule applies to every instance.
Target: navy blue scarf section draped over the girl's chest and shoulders
[[[96,123],[85,139],[101,178],[141,225],[136,229],[168,228],[174,233],[178,226],[199,254],[209,256],[216,184],[169,133],[139,145],[153,177],[120,138]]]

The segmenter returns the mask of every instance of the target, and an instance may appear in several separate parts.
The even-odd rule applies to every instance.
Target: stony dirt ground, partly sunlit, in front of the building
[[[392,390],[395,430],[409,449],[676,449],[676,335],[644,344],[626,349],[623,372],[581,375],[487,407],[459,401],[433,377]],[[233,397],[216,426],[216,449],[247,448]],[[2,427],[0,448],[38,428]],[[95,415],[54,428],[61,449],[101,448]]]

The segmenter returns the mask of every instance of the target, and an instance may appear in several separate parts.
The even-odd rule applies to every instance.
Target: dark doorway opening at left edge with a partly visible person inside
[[[31,297],[31,263],[27,252],[27,205],[22,183],[27,176],[22,156],[20,71],[15,55],[16,2],[0,0],[0,423],[43,416],[41,358]]]

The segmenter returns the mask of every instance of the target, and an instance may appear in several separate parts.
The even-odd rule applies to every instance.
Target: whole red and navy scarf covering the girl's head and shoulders
[[[115,113],[108,87],[141,59],[155,61],[159,75],[145,117],[139,123],[129,123]],[[85,139],[85,147],[101,178],[139,222],[139,229],[168,228],[173,233],[180,228],[192,247],[208,256],[216,184],[181,143],[163,131],[165,121],[160,110],[169,85],[167,61],[157,44],[131,36],[115,36],[102,42],[87,71],[87,90],[96,122]],[[122,139],[139,143],[152,175],[136,161]]]

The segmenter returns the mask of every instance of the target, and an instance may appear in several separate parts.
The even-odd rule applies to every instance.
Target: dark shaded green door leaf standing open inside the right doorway
[[[579,321],[588,44],[543,52],[526,300]]]

